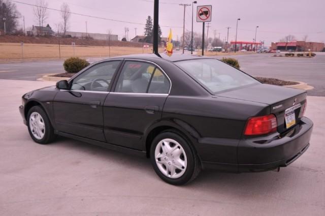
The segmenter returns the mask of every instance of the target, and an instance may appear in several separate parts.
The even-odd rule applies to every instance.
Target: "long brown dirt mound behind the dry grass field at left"
[[[71,45],[72,42],[76,43],[76,46],[108,46],[108,41],[100,41],[93,39],[79,39],[79,38],[58,38],[58,37],[29,37],[29,36],[0,36],[0,43],[28,43],[28,44],[60,44]],[[111,46],[120,47],[143,47],[143,45],[151,44],[128,42],[128,41],[111,41]]]

